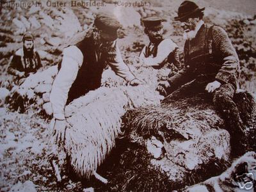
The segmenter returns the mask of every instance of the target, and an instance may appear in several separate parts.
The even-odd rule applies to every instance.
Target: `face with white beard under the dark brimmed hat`
[[[186,20],[181,20],[181,27],[184,29],[184,34],[183,37],[185,40],[189,39],[191,40],[192,38],[195,38],[196,33],[196,25],[199,22],[199,18],[188,18]]]

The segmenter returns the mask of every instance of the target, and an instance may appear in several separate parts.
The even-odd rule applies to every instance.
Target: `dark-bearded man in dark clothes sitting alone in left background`
[[[40,56],[34,49],[34,36],[31,32],[24,34],[22,42],[23,47],[15,52],[8,66],[8,73],[16,77],[18,84],[42,67]]]

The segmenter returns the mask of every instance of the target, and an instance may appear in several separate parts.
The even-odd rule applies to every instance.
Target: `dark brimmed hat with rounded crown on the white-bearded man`
[[[194,13],[203,12],[204,10],[205,8],[199,8],[192,1],[184,1],[182,4],[180,4],[178,17],[174,17],[174,20],[188,19],[189,16],[193,15]]]

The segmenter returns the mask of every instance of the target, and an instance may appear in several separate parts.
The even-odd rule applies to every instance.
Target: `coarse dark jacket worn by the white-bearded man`
[[[219,26],[205,24],[195,38],[184,45],[185,68],[168,79],[172,87],[196,81],[219,81],[238,86],[239,59],[227,33]]]

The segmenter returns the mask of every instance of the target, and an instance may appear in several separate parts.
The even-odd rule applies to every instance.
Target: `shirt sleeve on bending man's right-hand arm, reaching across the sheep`
[[[109,51],[107,64],[112,68],[116,75],[125,79],[129,82],[135,78],[129,67],[122,60],[120,50],[118,48],[117,41],[113,43],[112,50]]]

